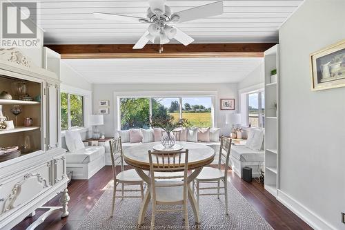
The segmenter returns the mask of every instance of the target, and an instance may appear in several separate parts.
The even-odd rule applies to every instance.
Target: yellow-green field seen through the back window
[[[169,115],[172,115],[175,119],[179,119],[179,113],[169,113]],[[211,113],[188,113],[183,111],[182,117],[188,119],[188,122],[192,126],[197,127],[211,127],[212,126],[212,119],[211,119]]]

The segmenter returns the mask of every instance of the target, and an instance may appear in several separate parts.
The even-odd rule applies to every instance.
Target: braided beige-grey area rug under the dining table
[[[130,189],[130,186],[126,187]],[[130,194],[133,195],[134,192],[127,193],[127,195]],[[219,200],[217,199],[217,195],[201,196],[201,222],[198,226],[195,226],[193,210],[190,204],[188,204],[190,229],[273,229],[230,182],[228,182],[228,200],[229,215],[225,215],[224,195],[221,195]],[[150,229],[151,204],[148,207],[144,224],[137,227],[141,204],[140,198],[116,199],[115,216],[113,218],[110,218],[111,203],[112,181],[106,186],[106,191],[101,195],[95,207],[93,207],[85,220],[83,220],[79,226],[79,230]],[[156,229],[184,229],[183,213],[157,213],[155,227]]]

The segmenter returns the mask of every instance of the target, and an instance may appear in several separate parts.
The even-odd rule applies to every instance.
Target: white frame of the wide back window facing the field
[[[182,116],[182,98],[184,97],[210,97],[211,98],[211,128],[217,124],[217,116],[215,116],[215,108],[217,108],[217,91],[147,91],[147,92],[118,92],[114,93],[115,98],[115,131],[121,130],[121,98],[148,98],[149,99],[149,113],[152,115],[152,98],[179,98],[179,114]]]

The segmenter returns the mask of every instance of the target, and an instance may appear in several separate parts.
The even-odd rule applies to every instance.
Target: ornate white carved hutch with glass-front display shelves
[[[44,67],[49,69],[50,55],[45,52],[44,58]],[[0,99],[3,115],[14,120],[15,125],[0,131],[0,147],[21,148],[19,157],[0,162],[0,229],[4,230],[34,214],[61,192],[61,207],[48,207],[28,229],[34,229],[55,211],[61,211],[63,217],[68,215],[66,157],[59,128],[59,74],[34,66],[21,50],[1,49],[0,92],[13,92],[16,82],[24,83],[34,100],[24,101],[14,97],[14,93],[13,99]],[[10,112],[14,105],[21,106],[18,124]],[[24,126],[26,117],[32,118],[32,126]]]

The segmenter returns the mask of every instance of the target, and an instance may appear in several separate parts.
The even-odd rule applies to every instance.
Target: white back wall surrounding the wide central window
[[[112,136],[117,130],[117,124],[115,124],[114,114],[114,93],[119,92],[145,92],[145,91],[203,91],[212,90],[217,91],[217,102],[215,108],[215,116],[217,119],[216,126],[222,128],[222,133],[229,134],[230,126],[225,124],[226,113],[234,113],[235,111],[220,111],[219,100],[221,98],[235,98],[235,108],[238,108],[237,104],[237,84],[94,84],[93,85],[93,112],[98,113],[98,101],[109,100],[110,101],[110,113],[104,115],[105,125],[99,126],[99,129],[106,134],[106,136]]]

